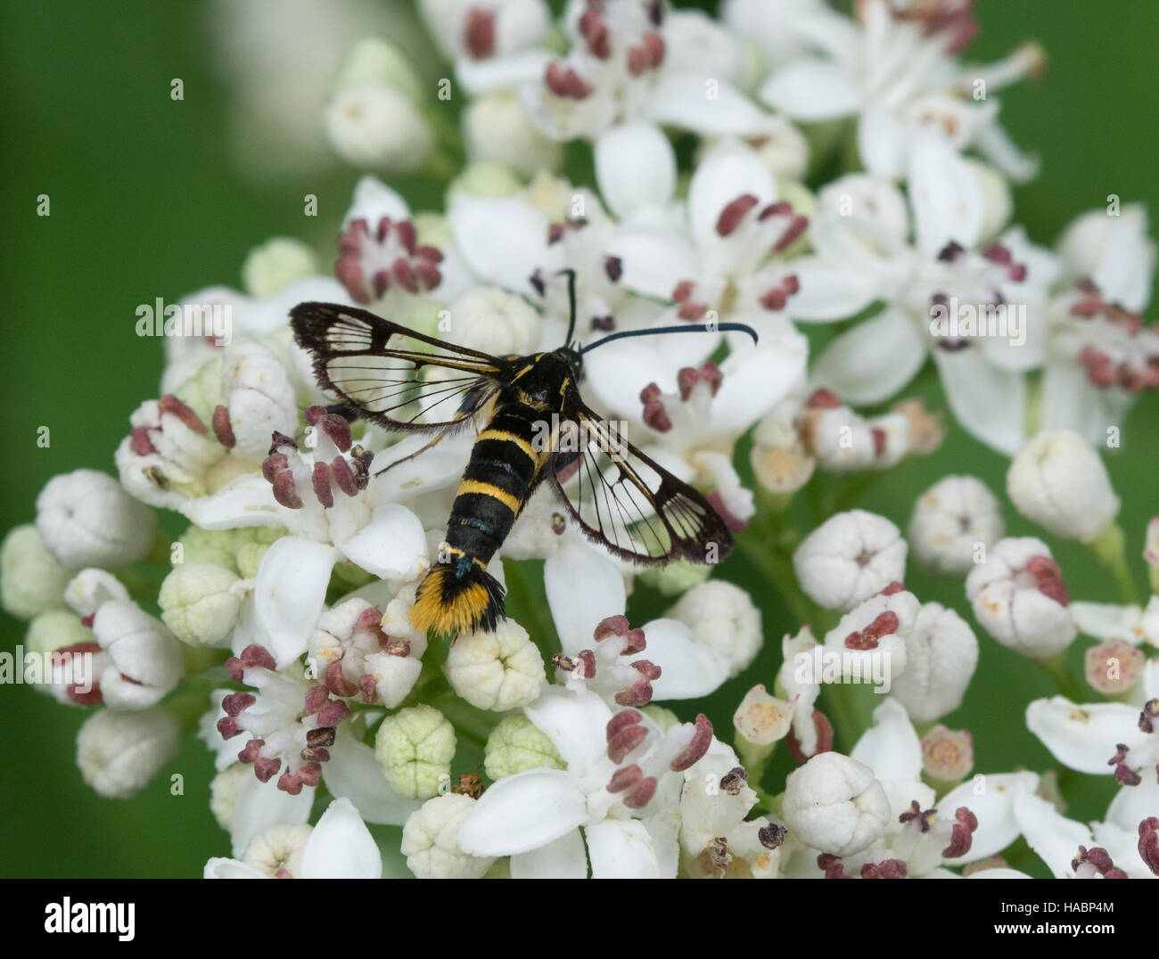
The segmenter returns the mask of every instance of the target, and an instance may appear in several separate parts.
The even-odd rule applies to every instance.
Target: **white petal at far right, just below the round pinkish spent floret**
[[[1065,696],[1035,700],[1026,709],[1026,725],[1063,766],[1095,776],[1115,771],[1107,761],[1115,747],[1142,746],[1139,710],[1124,703],[1076,705]]]

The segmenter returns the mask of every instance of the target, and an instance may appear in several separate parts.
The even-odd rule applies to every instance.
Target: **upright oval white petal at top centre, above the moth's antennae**
[[[676,189],[672,145],[651,123],[615,126],[596,142],[596,182],[621,219],[637,210],[663,207]]]

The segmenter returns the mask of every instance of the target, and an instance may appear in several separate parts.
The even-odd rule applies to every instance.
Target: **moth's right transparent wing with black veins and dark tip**
[[[715,563],[732,534],[705,497],[586,407],[561,426],[547,476],[589,539],[634,563]]]

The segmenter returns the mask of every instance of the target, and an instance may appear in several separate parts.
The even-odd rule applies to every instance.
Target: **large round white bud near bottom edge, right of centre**
[[[889,798],[868,766],[840,753],[818,753],[789,774],[781,817],[807,845],[850,856],[884,835]]]

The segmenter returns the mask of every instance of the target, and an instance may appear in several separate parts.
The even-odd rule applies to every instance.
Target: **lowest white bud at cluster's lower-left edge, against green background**
[[[127,799],[177,755],[181,730],[163,709],[102,709],[76,734],[81,778],[101,796]]]

